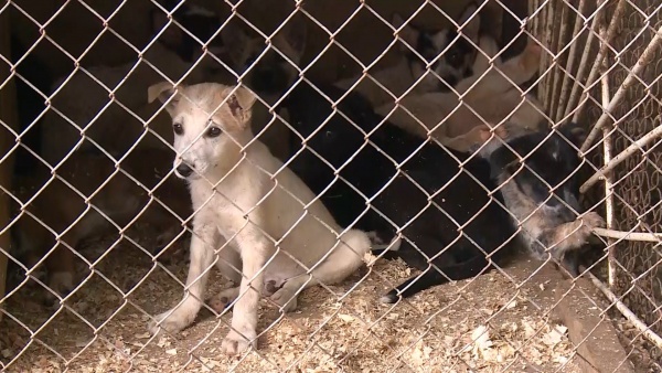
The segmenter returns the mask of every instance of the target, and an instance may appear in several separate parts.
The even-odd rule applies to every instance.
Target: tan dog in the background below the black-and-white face
[[[433,138],[458,151],[468,151],[476,145],[476,138],[463,135],[487,122],[508,120],[526,130],[544,128],[542,105],[531,95],[523,99],[520,89],[509,82],[521,85],[531,79],[538,70],[541,52],[530,40],[522,54],[495,64],[508,78],[490,70],[484,76],[477,74],[459,82],[455,89],[466,94],[461,102],[456,93],[424,93],[407,95],[398,107],[393,103],[382,105],[376,113],[414,135],[427,138],[430,132]]]

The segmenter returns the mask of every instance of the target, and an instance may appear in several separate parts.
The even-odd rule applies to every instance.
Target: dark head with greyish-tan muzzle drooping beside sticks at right
[[[481,150],[530,254],[541,260],[552,256],[573,276],[578,275],[577,258],[566,254],[580,249],[592,228],[605,225],[596,212],[578,213],[581,161],[576,148],[585,137],[580,126],[568,124],[509,140],[514,152],[508,147]]]

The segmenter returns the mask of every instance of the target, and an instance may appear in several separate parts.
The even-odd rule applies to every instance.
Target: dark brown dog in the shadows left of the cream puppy
[[[51,172],[43,166],[33,174],[19,178],[15,194],[22,203],[31,202],[12,226],[13,249],[25,258],[28,268],[47,255],[47,286],[64,296],[77,284],[76,253],[90,237],[118,233],[136,219],[136,224],[149,224],[160,233],[158,247],[150,249],[169,245],[182,232],[181,222],[192,213],[184,185],[172,175],[163,181],[170,172],[164,160],[171,158],[170,150],[136,149],[119,163],[128,177],[117,171],[106,154],[76,151],[56,170],[57,178],[52,181]],[[153,190],[153,202],[149,203],[148,191],[134,179]],[[89,204],[85,202],[88,196]],[[62,243],[55,242],[51,231],[63,234]],[[52,295],[47,292],[46,299],[53,299]]]

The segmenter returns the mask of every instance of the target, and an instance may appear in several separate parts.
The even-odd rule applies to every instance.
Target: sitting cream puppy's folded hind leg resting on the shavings
[[[362,231],[350,230],[341,236],[341,241],[310,275],[303,274],[287,280],[270,299],[289,312],[297,308],[299,291],[318,284],[340,283],[356,271],[363,263],[363,256],[370,251],[370,238]]]

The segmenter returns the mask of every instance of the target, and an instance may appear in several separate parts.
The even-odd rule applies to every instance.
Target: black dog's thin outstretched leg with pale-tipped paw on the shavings
[[[413,295],[429,289],[433,286],[446,284],[449,281],[459,281],[480,275],[484,269],[490,268],[491,264],[482,255],[477,255],[469,260],[453,264],[439,269],[446,275],[440,274],[436,268],[429,267],[426,273],[413,276],[388,291],[380,301],[383,303],[395,303],[398,298],[408,298]]]

